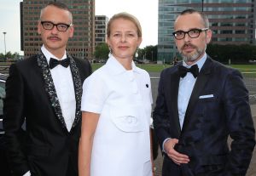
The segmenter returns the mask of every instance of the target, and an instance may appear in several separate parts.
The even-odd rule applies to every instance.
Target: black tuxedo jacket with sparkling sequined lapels
[[[76,96],[76,116],[67,131],[44,54],[10,66],[4,99],[3,127],[10,167],[15,175],[78,175],[81,95],[84,79],[91,73],[88,60],[70,58]],[[20,128],[26,118],[26,133]]]

